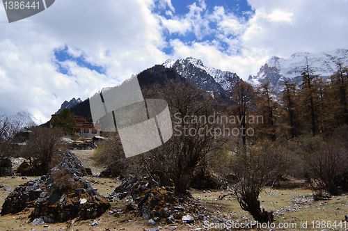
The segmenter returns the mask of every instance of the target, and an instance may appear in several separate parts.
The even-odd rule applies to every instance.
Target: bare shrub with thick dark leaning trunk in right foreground
[[[267,183],[285,173],[290,163],[286,150],[275,143],[264,142],[260,147],[241,148],[236,159],[233,170],[237,184],[233,188],[232,196],[256,221],[272,222],[272,212],[264,209],[262,211],[258,198]]]

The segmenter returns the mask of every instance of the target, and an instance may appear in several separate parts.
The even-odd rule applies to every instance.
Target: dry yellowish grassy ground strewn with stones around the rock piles
[[[91,155],[93,151],[74,151],[77,157],[82,161],[82,164],[87,167],[92,167],[93,173],[100,173],[102,168],[97,168],[92,166]],[[15,189],[15,186],[22,184],[28,180],[32,180],[35,177],[27,177],[27,180],[22,180],[22,177],[0,177],[0,185],[4,187],[10,186]],[[114,189],[114,187],[120,184],[120,181],[109,179],[109,178],[97,178],[97,177],[85,177],[86,180],[93,184],[93,187],[97,189],[98,192],[106,196],[108,193]],[[299,182],[294,182],[299,183]],[[280,186],[283,182],[280,184]],[[345,214],[348,214],[348,196],[336,196],[331,198],[331,200],[314,201],[312,198],[312,193],[307,187],[303,187],[303,182],[301,188],[297,187],[295,189],[272,189],[267,187],[260,194],[261,206],[267,211],[274,211],[275,224],[280,225],[280,223],[289,224],[296,223],[296,228],[266,228],[260,230],[346,230],[345,223],[342,223],[342,227],[337,226],[345,218]],[[283,185],[284,186],[284,185]],[[4,191],[4,187],[0,188],[0,205],[2,205],[6,196],[9,192]],[[288,188],[288,187],[286,187]],[[223,200],[219,200],[219,196],[228,193],[228,191],[222,190],[191,190],[193,197],[199,198],[201,203],[205,207],[211,209],[212,214],[209,215],[207,221],[214,221],[216,218],[225,218],[227,221],[239,221],[250,223],[253,219],[248,214],[248,212],[243,211],[236,200],[230,197],[226,197]],[[112,202],[112,209],[122,209],[125,202]],[[110,211],[111,211],[110,210]],[[168,226],[164,223],[157,223],[156,225],[150,225],[148,220],[137,216],[135,213],[122,214],[119,217],[113,216],[106,212],[96,221],[98,225],[92,226],[93,220],[87,221],[76,221],[72,223],[68,221],[66,223],[56,223],[56,224],[44,224],[47,225],[32,225],[26,223],[30,210],[26,210],[19,214],[6,215],[0,217],[0,230],[150,230],[150,228],[157,228],[160,226],[163,230],[171,230],[174,226],[176,230],[195,230],[197,228],[203,228],[207,230],[206,223],[203,224],[202,221],[196,221],[193,225],[176,224]],[[324,222],[323,222],[324,221]],[[328,221],[331,221],[331,225],[336,224],[336,227],[331,226],[328,228],[324,224],[328,225]],[[336,222],[336,223],[334,223]],[[301,223],[307,223],[307,228],[301,228]],[[314,226],[313,226],[314,225]],[[210,230],[223,230],[223,229],[210,229]],[[243,229],[239,229],[243,230]],[[255,229],[250,229],[255,230]],[[347,224],[348,230],[348,224]]]

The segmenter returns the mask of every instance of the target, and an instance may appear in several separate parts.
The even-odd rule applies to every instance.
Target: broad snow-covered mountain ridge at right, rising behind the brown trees
[[[254,77],[249,76],[248,82],[257,86],[269,81],[272,86],[278,88],[284,80],[301,83],[306,58],[312,74],[320,75],[322,78],[330,77],[337,71],[338,61],[344,66],[348,65],[348,49],[335,49],[333,51],[321,52],[319,54],[295,53],[290,58],[273,56],[260,67],[260,71]]]

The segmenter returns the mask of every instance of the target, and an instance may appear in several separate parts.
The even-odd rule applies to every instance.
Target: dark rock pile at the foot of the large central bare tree
[[[123,212],[136,210],[145,219],[168,224],[193,223],[197,219],[205,220],[209,214],[199,200],[176,193],[172,186],[159,187],[148,176],[123,180],[108,199],[129,202]]]

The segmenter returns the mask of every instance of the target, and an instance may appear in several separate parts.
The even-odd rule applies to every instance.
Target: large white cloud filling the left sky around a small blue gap
[[[159,48],[165,43],[151,4],[61,0],[22,22],[0,24],[0,114],[28,109],[48,119],[64,100],[85,99],[97,84],[160,63],[165,54]],[[4,12],[0,6],[1,22],[7,21]],[[63,63],[69,76],[58,73],[54,50],[65,46],[71,56],[82,55],[106,67],[106,73],[73,61]]]

